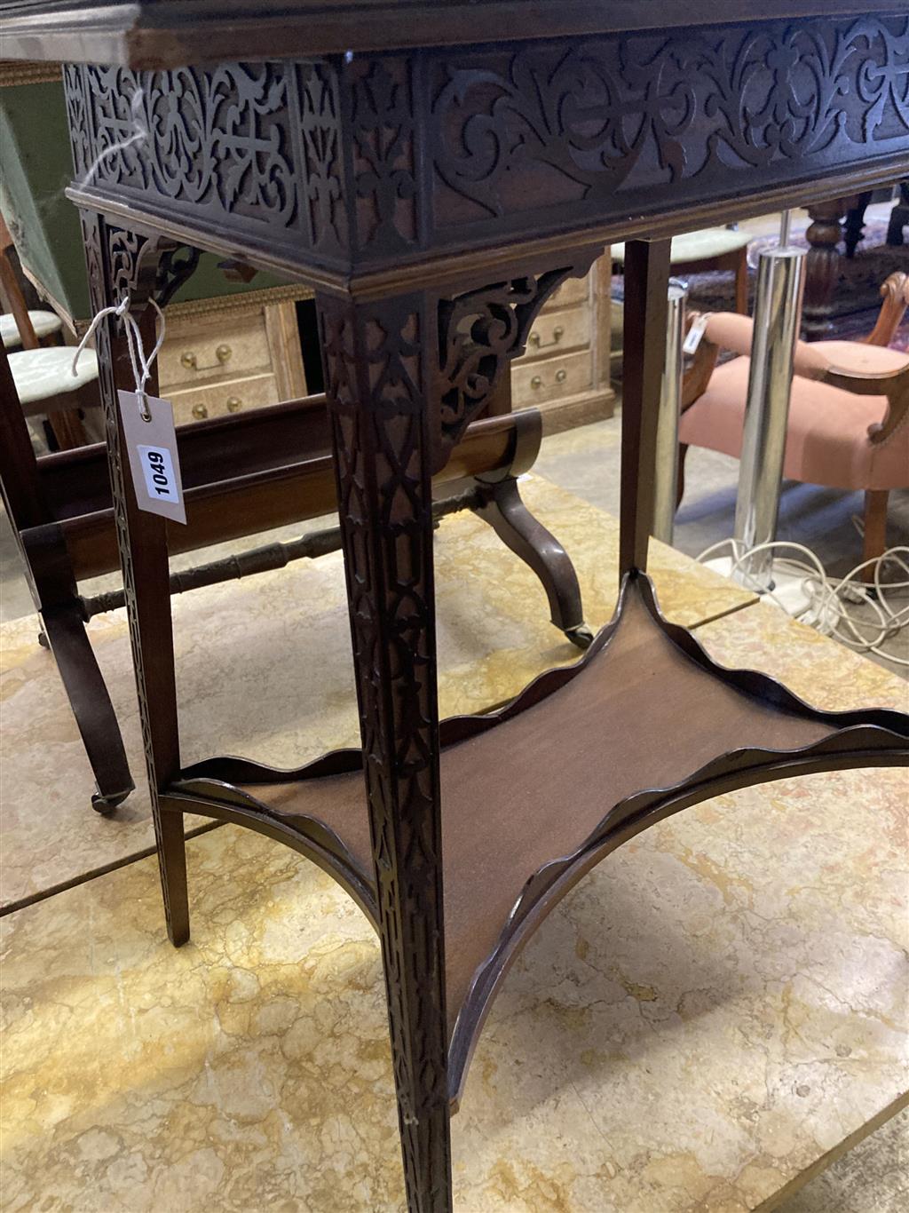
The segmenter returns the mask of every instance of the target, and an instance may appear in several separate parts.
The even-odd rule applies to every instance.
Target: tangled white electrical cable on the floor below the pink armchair
[[[758,552],[788,549],[800,553],[805,559],[773,560],[773,568],[781,573],[802,577],[801,592],[807,605],[796,619],[827,636],[835,637],[840,643],[858,653],[874,653],[894,665],[909,666],[909,661],[904,657],[893,656],[881,648],[885,642],[891,640],[898,632],[909,626],[909,603],[898,609],[892,605],[893,591],[909,588],[909,547],[892,547],[879,557],[863,560],[854,569],[850,569],[845,577],[839,579],[828,576],[823,564],[811,548],[785,540],[774,540],[770,543],[759,543],[753,548],[745,548],[741,540],[725,539],[705,548],[698,556],[698,560],[703,563],[708,557],[724,548],[730,548],[732,552],[730,576],[738,575],[741,583],[754,590],[762,598],[776,603],[781,610],[787,610],[785,604],[772,591],[766,590],[762,583],[750,579],[743,565]],[[884,582],[881,576],[887,564],[897,565],[907,575],[907,580]],[[857,580],[858,574],[864,569],[874,569],[875,597],[869,593],[870,582]],[[870,609],[874,619],[871,621],[856,619],[854,613],[850,614],[847,609],[848,602]],[[870,634],[867,631],[869,628]]]

